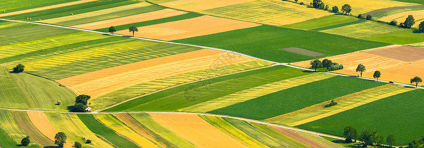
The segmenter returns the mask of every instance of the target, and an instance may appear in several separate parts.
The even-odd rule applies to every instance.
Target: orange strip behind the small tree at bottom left
[[[43,133],[44,136],[49,138],[52,141],[55,141],[55,135],[58,131],[53,127],[52,123],[50,123],[46,114],[42,111],[27,111],[29,119],[32,124],[34,124],[37,129]],[[64,145],[65,148],[72,148],[72,144],[69,141],[66,141]]]

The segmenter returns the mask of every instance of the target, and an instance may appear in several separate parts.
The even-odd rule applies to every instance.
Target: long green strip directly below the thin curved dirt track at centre
[[[125,111],[176,111],[252,87],[306,74],[310,73],[284,66],[274,66],[190,83],[143,96],[138,98],[139,100],[130,101],[122,106],[127,107]]]

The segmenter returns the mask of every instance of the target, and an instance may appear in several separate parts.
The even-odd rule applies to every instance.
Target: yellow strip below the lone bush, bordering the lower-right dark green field
[[[384,87],[384,86],[385,85],[380,86],[380,87]],[[392,85],[391,87],[388,87],[388,88],[386,87],[386,88],[383,88],[383,89],[378,88],[378,87],[371,88],[371,89],[377,89],[377,91],[366,92],[367,90],[365,90],[363,92],[366,92],[366,93],[352,97],[349,100],[347,100],[346,97],[350,97],[350,95],[343,96],[343,97],[340,97],[340,98],[336,98],[334,100],[336,102],[339,102],[336,106],[328,107],[328,108],[321,108],[321,109],[314,110],[314,111],[303,112],[303,114],[299,114],[297,116],[286,118],[286,119],[277,120],[277,121],[274,121],[274,122],[289,125],[289,126],[297,126],[297,125],[301,125],[301,124],[304,124],[304,123],[307,123],[307,122],[318,120],[318,119],[321,119],[321,118],[324,118],[324,117],[327,117],[327,116],[330,116],[330,115],[333,115],[333,114],[336,114],[336,113],[340,113],[342,111],[351,110],[353,108],[362,106],[364,104],[367,104],[367,103],[370,103],[370,102],[373,102],[373,101],[377,101],[379,99],[383,99],[383,98],[386,98],[386,97],[390,97],[390,96],[393,96],[393,95],[397,95],[397,94],[400,94],[400,93],[404,93],[404,92],[413,90],[412,88],[406,88],[406,87],[403,87],[403,86],[395,86],[395,85]],[[380,89],[380,90],[378,90],[378,89]],[[362,93],[362,92],[358,92],[358,93]],[[356,93],[351,94],[351,95],[355,95],[355,94]]]

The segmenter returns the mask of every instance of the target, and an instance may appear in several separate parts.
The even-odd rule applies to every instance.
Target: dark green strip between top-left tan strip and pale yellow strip
[[[138,3],[137,0],[98,0],[86,3],[80,3],[75,5],[69,5],[59,8],[10,15],[2,17],[4,19],[11,20],[25,20],[25,21],[38,21],[38,19],[47,20],[52,18],[69,16],[71,14],[82,14],[86,12],[92,12],[102,9],[108,9],[113,7],[118,7],[122,5],[134,4]],[[27,20],[26,18],[32,18],[31,20]]]

